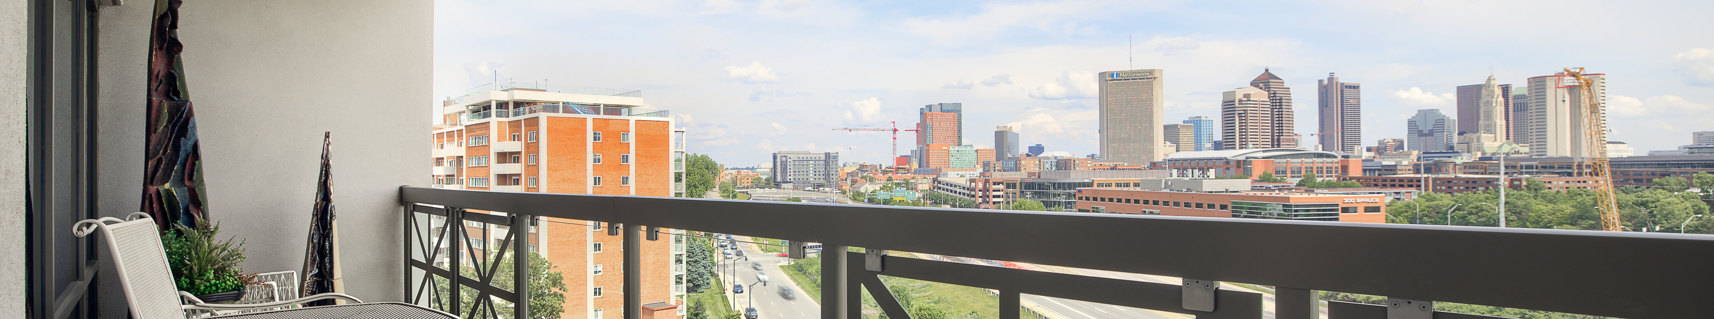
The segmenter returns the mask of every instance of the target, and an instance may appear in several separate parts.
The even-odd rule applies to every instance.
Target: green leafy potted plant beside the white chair
[[[163,245],[166,262],[173,268],[175,285],[180,292],[197,295],[202,302],[231,302],[243,298],[243,286],[255,281],[255,274],[243,274],[238,262],[243,261],[243,240],[219,240],[219,225],[197,218],[195,228],[175,226],[166,230]]]

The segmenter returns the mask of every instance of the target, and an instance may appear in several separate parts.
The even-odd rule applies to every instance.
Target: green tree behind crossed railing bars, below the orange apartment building
[[[559,319],[560,314],[566,312],[566,276],[554,271],[554,262],[548,262],[547,257],[542,257],[542,254],[530,252],[528,256],[530,273],[524,280],[530,281],[530,319]],[[488,285],[507,290],[512,288],[512,257],[495,256],[495,259],[500,259],[499,264],[494,264],[494,259],[475,264],[494,269],[494,280]],[[468,278],[482,278],[475,266],[461,268],[461,273]],[[437,283],[440,283],[439,292],[449,292],[446,281],[437,280]],[[476,295],[475,288],[461,286],[459,298],[463,298],[464,305],[482,305],[476,302]],[[499,317],[512,317],[511,305],[500,305],[499,302],[494,305]]]

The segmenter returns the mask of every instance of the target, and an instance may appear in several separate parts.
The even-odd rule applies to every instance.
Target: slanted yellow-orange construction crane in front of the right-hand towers
[[[1601,214],[1601,230],[1620,232],[1618,221],[1618,196],[1613,194],[1613,168],[1608,166],[1606,158],[1606,122],[1601,110],[1601,103],[1596,101],[1596,81],[1584,77],[1584,69],[1565,69],[1565,75],[1577,81],[1577,106],[1582,108],[1584,115],[1584,147],[1589,153],[1589,177],[1596,182],[1591,190],[1596,192],[1596,209]],[[1560,87],[1565,87],[1561,82]]]

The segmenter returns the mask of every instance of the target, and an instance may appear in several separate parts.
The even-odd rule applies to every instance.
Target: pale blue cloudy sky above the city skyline
[[[1263,67],[1315,132],[1315,81],[1363,84],[1366,146],[1455,86],[1608,74],[1613,141],[1645,153],[1714,130],[1714,2],[835,2],[439,0],[435,94],[514,81],[643,89],[728,166],[773,151],[888,158],[884,122],[965,103],[965,142],[1097,153],[1095,72],[1164,69],[1167,123],[1219,115]],[[1135,45],[1128,45],[1128,38]],[[1133,53],[1128,53],[1133,51]],[[1128,55],[1135,62],[1128,62]],[[902,132],[903,149],[915,135]]]

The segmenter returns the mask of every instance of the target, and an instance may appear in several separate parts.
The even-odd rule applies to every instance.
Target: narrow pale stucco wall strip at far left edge
[[[29,3],[0,0],[0,317],[24,317],[24,84]]]

